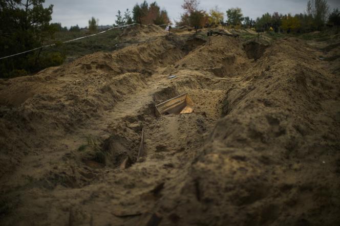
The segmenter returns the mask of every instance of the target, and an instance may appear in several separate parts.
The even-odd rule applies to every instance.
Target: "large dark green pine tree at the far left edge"
[[[56,26],[49,23],[53,5],[45,8],[44,3],[45,0],[0,1],[0,57],[40,47],[53,36]],[[18,71],[25,74],[41,70],[45,66],[41,51],[3,59],[0,78],[18,76]]]

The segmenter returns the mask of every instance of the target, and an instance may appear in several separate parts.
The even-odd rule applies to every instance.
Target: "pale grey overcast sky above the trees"
[[[78,24],[80,27],[88,26],[88,20],[94,16],[99,19],[99,25],[112,25],[116,19],[117,11],[125,11],[132,8],[142,0],[46,0],[45,6],[53,4],[53,22],[61,22],[61,25],[70,27]],[[147,1],[148,3],[154,2]],[[165,8],[169,18],[179,20],[183,13],[181,5],[183,0],[158,0],[161,8]],[[306,10],[308,0],[201,0],[200,8],[209,10],[218,6],[225,13],[231,7],[240,7],[244,16],[252,19],[269,12],[303,13]],[[340,9],[340,0],[328,0],[330,8]],[[225,16],[226,17],[226,16]]]

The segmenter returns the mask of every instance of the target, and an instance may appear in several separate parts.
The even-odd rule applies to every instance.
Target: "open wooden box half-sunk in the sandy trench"
[[[164,101],[156,106],[156,116],[183,114],[194,111],[194,102],[187,93]]]

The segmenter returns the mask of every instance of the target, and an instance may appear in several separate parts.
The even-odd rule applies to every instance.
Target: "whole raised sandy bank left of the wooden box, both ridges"
[[[100,117],[101,111],[112,108],[124,95],[146,88],[146,76],[185,55],[183,44],[177,36],[155,37],[112,54],[95,53],[34,76],[3,80],[3,133],[10,139],[12,131],[6,129],[6,124],[20,127],[22,119],[28,124],[23,133],[31,130],[32,135],[44,136],[50,134],[50,129],[70,132]],[[13,112],[18,116],[12,118]],[[24,146],[38,140],[23,139],[27,144]],[[5,149],[11,149],[13,143],[9,140],[6,145]]]

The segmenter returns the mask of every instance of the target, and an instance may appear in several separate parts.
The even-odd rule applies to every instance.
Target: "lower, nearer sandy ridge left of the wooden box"
[[[11,85],[16,87],[15,84]],[[25,86],[25,83],[20,85]],[[47,140],[53,139],[54,134],[71,133],[88,120],[99,118],[103,110],[114,107],[124,95],[143,87],[146,87],[145,76],[138,73],[127,73],[114,78],[89,76],[65,84],[61,87],[62,92],[52,89],[50,93],[28,98],[19,106],[2,106],[2,148],[6,152],[4,159],[1,159],[2,164],[15,166],[24,154],[20,150],[27,149],[28,154],[29,150],[48,145]],[[17,134],[22,134],[19,140]],[[3,167],[0,176],[9,169]]]

